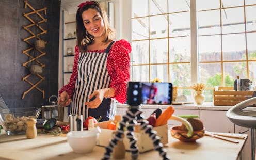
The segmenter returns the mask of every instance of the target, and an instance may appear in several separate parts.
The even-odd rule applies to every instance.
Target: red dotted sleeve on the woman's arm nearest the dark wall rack
[[[59,90],[59,95],[63,91],[66,91],[69,94],[69,97],[72,98],[72,96],[74,94],[75,82],[76,82],[77,75],[78,75],[77,66],[78,66],[79,54],[80,54],[80,51],[79,51],[78,47],[75,46],[75,57],[74,57],[73,72],[72,72],[71,77],[69,79],[69,83],[67,85],[63,86]]]

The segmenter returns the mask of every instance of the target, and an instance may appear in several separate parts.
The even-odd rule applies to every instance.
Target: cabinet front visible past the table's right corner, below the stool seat
[[[240,154],[242,159],[251,159],[251,129],[247,131],[248,129],[242,126],[235,125],[235,133],[241,133],[247,134],[247,141],[245,142],[244,148],[242,150],[242,153]]]

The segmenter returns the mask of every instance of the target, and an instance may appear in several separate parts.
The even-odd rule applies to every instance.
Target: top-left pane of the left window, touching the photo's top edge
[[[133,0],[133,15],[132,17],[143,17],[149,14],[148,0]]]

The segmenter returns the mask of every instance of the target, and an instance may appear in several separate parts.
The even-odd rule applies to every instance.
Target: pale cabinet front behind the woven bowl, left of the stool
[[[227,111],[221,110],[199,110],[199,118],[207,131],[234,133],[234,123],[228,119],[226,113]]]

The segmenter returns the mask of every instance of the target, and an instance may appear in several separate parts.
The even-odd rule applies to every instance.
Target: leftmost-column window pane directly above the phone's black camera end
[[[133,66],[133,81],[149,82],[149,66]]]

